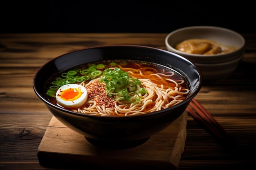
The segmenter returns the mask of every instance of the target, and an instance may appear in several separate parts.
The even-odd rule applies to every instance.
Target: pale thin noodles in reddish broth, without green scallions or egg
[[[179,104],[186,99],[186,96],[189,94],[189,89],[186,88],[184,80],[172,79],[173,75],[175,75],[173,71],[165,72],[162,70],[161,73],[158,73],[155,68],[151,67],[141,67],[138,69],[118,67],[123,71],[128,71],[130,77],[139,79],[142,83],[141,87],[146,89],[147,93],[143,95],[139,92],[134,94],[134,97],[138,97],[138,95],[140,97],[140,101],[137,104],[116,101],[110,97],[107,99],[106,96],[104,96],[104,98],[88,96],[88,100],[83,107],[72,111],[101,116],[140,115],[163,110]],[[92,79],[87,84],[85,82],[81,84],[90,92],[90,88],[93,88],[93,84],[98,84],[103,88],[103,85],[99,84],[99,79],[100,78]],[[101,97],[103,97],[103,90],[105,89],[103,88],[98,92]],[[99,104],[100,102],[105,102],[108,105]]]

